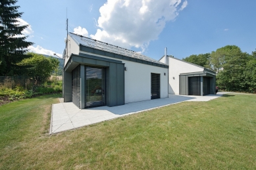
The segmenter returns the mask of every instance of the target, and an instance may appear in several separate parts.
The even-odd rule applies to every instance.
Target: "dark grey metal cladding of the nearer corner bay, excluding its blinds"
[[[68,63],[64,67],[63,75],[64,102],[75,102],[73,101],[74,97],[72,98],[74,95],[74,91],[72,94],[72,87],[74,89],[74,85],[72,86],[72,82],[74,81],[72,79],[72,72],[79,67],[80,79],[78,82],[80,83],[80,89],[76,87],[76,91],[79,91],[79,93],[75,95],[80,95],[80,104],[76,104],[76,106],[81,109],[86,108],[86,66],[105,68],[105,105],[119,106],[124,104],[124,63],[118,60],[88,54],[72,54],[70,58],[68,58]]]

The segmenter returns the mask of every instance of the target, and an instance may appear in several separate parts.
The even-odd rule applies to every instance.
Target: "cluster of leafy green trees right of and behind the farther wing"
[[[236,45],[226,45],[211,54],[193,54],[183,60],[215,70],[220,89],[256,93],[256,51],[250,55]]]

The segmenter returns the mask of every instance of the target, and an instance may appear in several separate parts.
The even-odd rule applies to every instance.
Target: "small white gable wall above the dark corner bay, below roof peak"
[[[64,60],[64,66],[66,66],[66,62],[68,62],[68,58],[70,57],[70,55],[79,54],[79,50],[79,43],[74,41],[74,39],[72,39],[70,35],[68,35],[68,45],[66,47],[66,57]]]

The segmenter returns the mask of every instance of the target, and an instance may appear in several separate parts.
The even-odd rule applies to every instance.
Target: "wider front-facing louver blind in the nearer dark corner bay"
[[[86,66],[85,69],[85,107],[106,105],[105,68]]]

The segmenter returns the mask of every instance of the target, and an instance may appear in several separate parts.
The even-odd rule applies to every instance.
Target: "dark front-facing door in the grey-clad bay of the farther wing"
[[[189,95],[201,96],[200,77],[189,77]]]

